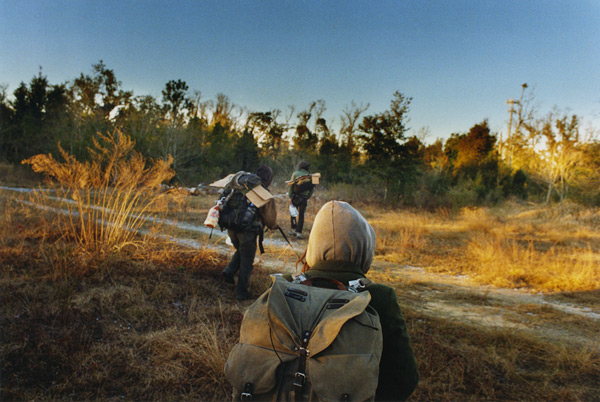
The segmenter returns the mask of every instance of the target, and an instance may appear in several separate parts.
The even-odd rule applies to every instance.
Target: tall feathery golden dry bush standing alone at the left
[[[135,244],[148,216],[158,217],[182,201],[181,194],[161,188],[175,175],[172,158],[146,160],[133,150],[134,145],[120,131],[98,133],[89,149],[89,161],[78,161],[60,145],[62,162],[42,154],[23,161],[48,178],[59,209],[68,211],[57,219],[65,233],[88,252]],[[56,201],[39,190],[35,203],[51,206]]]

